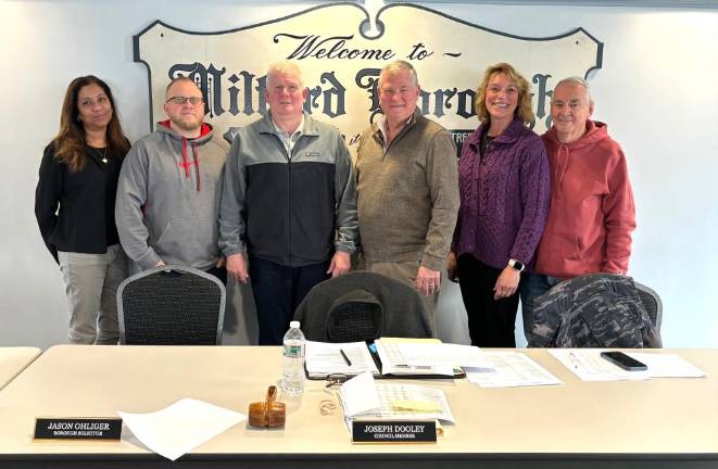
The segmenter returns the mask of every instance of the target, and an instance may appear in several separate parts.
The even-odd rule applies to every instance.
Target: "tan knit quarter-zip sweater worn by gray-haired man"
[[[418,262],[443,269],[458,212],[456,148],[439,124],[415,112],[383,151],[378,125],[356,156],[360,237],[369,262]]]

